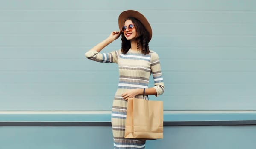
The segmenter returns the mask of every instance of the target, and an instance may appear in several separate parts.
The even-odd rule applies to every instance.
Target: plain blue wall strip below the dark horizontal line
[[[0,127],[0,131],[1,149],[113,149],[110,127]],[[255,126],[176,126],[164,131],[164,139],[147,141],[146,149],[256,146]]]

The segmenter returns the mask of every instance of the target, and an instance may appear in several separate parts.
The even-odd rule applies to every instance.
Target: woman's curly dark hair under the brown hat
[[[136,26],[135,28],[137,29],[137,49],[139,48],[140,44],[142,45],[142,53],[143,54],[149,54],[149,32],[147,32],[146,28],[143,26],[143,24],[136,19],[135,17],[128,17],[126,20],[131,20],[133,25]],[[125,20],[125,21],[126,21]],[[131,48],[131,42],[130,40],[127,40],[124,34],[122,34],[122,47],[121,47],[121,52],[123,54],[126,54],[129,49]]]

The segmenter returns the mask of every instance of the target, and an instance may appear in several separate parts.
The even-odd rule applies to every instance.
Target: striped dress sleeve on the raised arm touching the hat
[[[97,51],[88,51],[85,53],[85,57],[90,60],[101,63],[118,63],[119,51],[112,51],[109,53],[99,53]]]

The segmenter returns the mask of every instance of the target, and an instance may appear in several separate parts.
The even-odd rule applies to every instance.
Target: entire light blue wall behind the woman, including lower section
[[[41,116],[36,111],[109,115],[118,67],[84,54],[118,29],[118,15],[127,9],[141,11],[153,28],[150,49],[159,54],[165,93],[150,99],[164,101],[167,117],[181,116],[166,121],[256,120],[255,6],[253,0],[0,0],[0,149],[74,149],[74,143],[77,149],[95,143],[95,148],[112,148],[109,126],[12,127],[3,122],[29,123]],[[116,40],[104,51],[120,45]],[[189,119],[191,113],[197,118]],[[106,117],[99,121],[109,122]],[[147,148],[253,148],[255,127],[165,126],[165,139],[148,141]]]

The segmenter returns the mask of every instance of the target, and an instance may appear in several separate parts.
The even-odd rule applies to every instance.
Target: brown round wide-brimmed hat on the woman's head
[[[127,11],[123,11],[121,14],[119,14],[119,17],[118,17],[119,29],[121,30],[121,28],[124,26],[124,21],[128,17],[135,17],[144,25],[147,32],[149,33],[149,41],[150,41],[152,38],[152,29],[151,29],[150,23],[147,21],[146,17],[144,17],[144,15],[138,11],[127,10]]]

